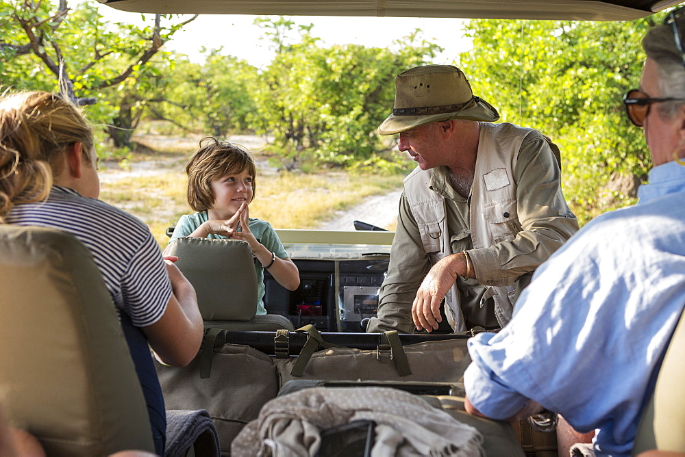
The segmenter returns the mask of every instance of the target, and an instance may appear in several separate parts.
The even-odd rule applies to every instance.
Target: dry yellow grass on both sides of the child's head
[[[279,173],[260,176],[250,216],[271,222],[277,229],[313,229],[340,209],[363,198],[401,187],[403,177],[345,174]],[[166,228],[183,214],[186,176],[169,171],[147,176],[103,180],[101,200],[125,209],[145,222],[160,246],[166,246]]]

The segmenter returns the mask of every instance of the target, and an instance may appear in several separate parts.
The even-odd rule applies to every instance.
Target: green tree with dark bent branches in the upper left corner
[[[69,8],[66,0],[9,0],[0,16],[0,71],[3,84],[20,89],[55,90],[79,104],[107,99],[92,110],[95,122],[110,125],[115,146],[130,146],[137,112],[149,88],[163,82],[153,66],[169,59],[162,44],[188,21],[166,25],[110,25],[97,3]],[[155,80],[155,78],[157,78]],[[134,87],[136,90],[130,90]],[[108,92],[117,95],[108,96]],[[78,94],[78,96],[76,95]]]

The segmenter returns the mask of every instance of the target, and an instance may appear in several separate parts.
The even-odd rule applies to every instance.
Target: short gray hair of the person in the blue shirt
[[[677,25],[680,30],[685,31],[685,16],[677,19]],[[685,44],[685,37],[681,34],[680,38]],[[680,51],[675,46],[673,26],[667,24],[653,27],[643,38],[642,44],[647,57],[658,68],[660,96],[685,99],[685,66]],[[683,104],[677,101],[659,103],[658,113],[662,118],[672,118]]]

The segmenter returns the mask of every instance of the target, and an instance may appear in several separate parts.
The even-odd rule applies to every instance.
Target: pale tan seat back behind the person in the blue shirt
[[[649,449],[685,452],[685,313],[681,315],[643,411],[633,455]]]

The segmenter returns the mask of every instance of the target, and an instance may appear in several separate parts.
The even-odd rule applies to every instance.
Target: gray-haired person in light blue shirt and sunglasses
[[[511,322],[469,341],[469,413],[519,419],[546,408],[596,430],[597,456],[630,455],[685,306],[682,12],[647,33],[640,88],[624,99],[654,165],[638,204],[584,226],[537,270]]]

